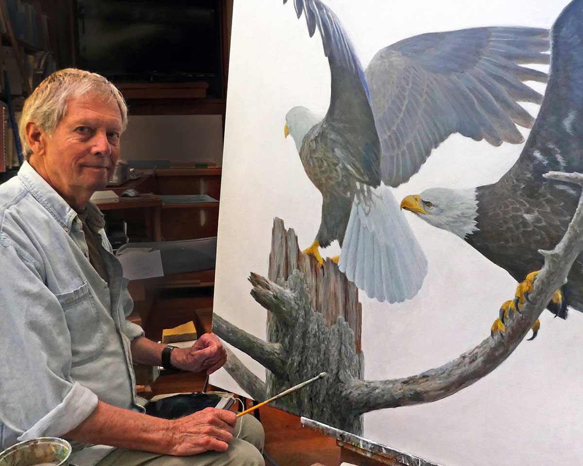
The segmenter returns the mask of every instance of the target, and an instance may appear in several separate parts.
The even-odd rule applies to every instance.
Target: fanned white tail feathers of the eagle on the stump
[[[370,209],[354,200],[338,266],[381,302],[402,302],[420,290],[427,259],[391,189],[375,189]]]

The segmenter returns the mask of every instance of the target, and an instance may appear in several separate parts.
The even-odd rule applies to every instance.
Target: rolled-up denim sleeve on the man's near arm
[[[71,379],[71,336],[37,261],[0,244],[0,421],[18,440],[62,436],[97,407]]]

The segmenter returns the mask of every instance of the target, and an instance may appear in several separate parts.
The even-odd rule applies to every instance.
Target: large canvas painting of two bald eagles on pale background
[[[581,195],[543,177],[583,171],[583,0],[557,22],[569,3],[234,3],[214,312],[237,370],[214,386],[250,395],[245,377],[283,389],[306,367],[332,369],[337,400],[349,382],[406,390],[482,341],[508,345],[505,326],[529,299],[517,284],[541,269],[539,249],[563,237]],[[299,262],[317,280],[273,273]],[[447,466],[583,464],[582,267],[536,338],[488,375],[430,403],[359,405],[358,432]],[[328,276],[349,285],[325,290]],[[283,298],[299,287],[311,313],[276,315],[258,299],[261,277]],[[352,315],[334,312],[348,301]],[[325,326],[357,354],[318,341]],[[290,342],[303,352],[270,367]],[[357,369],[343,378],[331,361]]]

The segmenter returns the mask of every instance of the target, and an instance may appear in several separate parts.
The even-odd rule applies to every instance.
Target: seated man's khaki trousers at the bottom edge
[[[97,466],[265,466],[262,451],[265,439],[263,426],[254,416],[245,414],[237,419],[233,436],[239,436],[222,453],[206,451],[194,456],[167,456],[147,451],[115,449]]]

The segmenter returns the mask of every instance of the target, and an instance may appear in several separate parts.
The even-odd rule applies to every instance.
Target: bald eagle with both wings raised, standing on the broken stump
[[[284,0],[283,3],[286,3]],[[304,170],[322,193],[321,224],[305,252],[338,240],[339,268],[378,301],[417,294],[427,259],[388,186],[414,175],[431,151],[459,132],[494,146],[521,143],[533,118],[517,101],[542,96],[522,83],[546,74],[548,31],[480,27],[422,34],[377,52],[363,70],[338,17],[319,0],[294,0],[310,37],[319,30],[331,71],[322,118],[305,107],[286,115]]]

